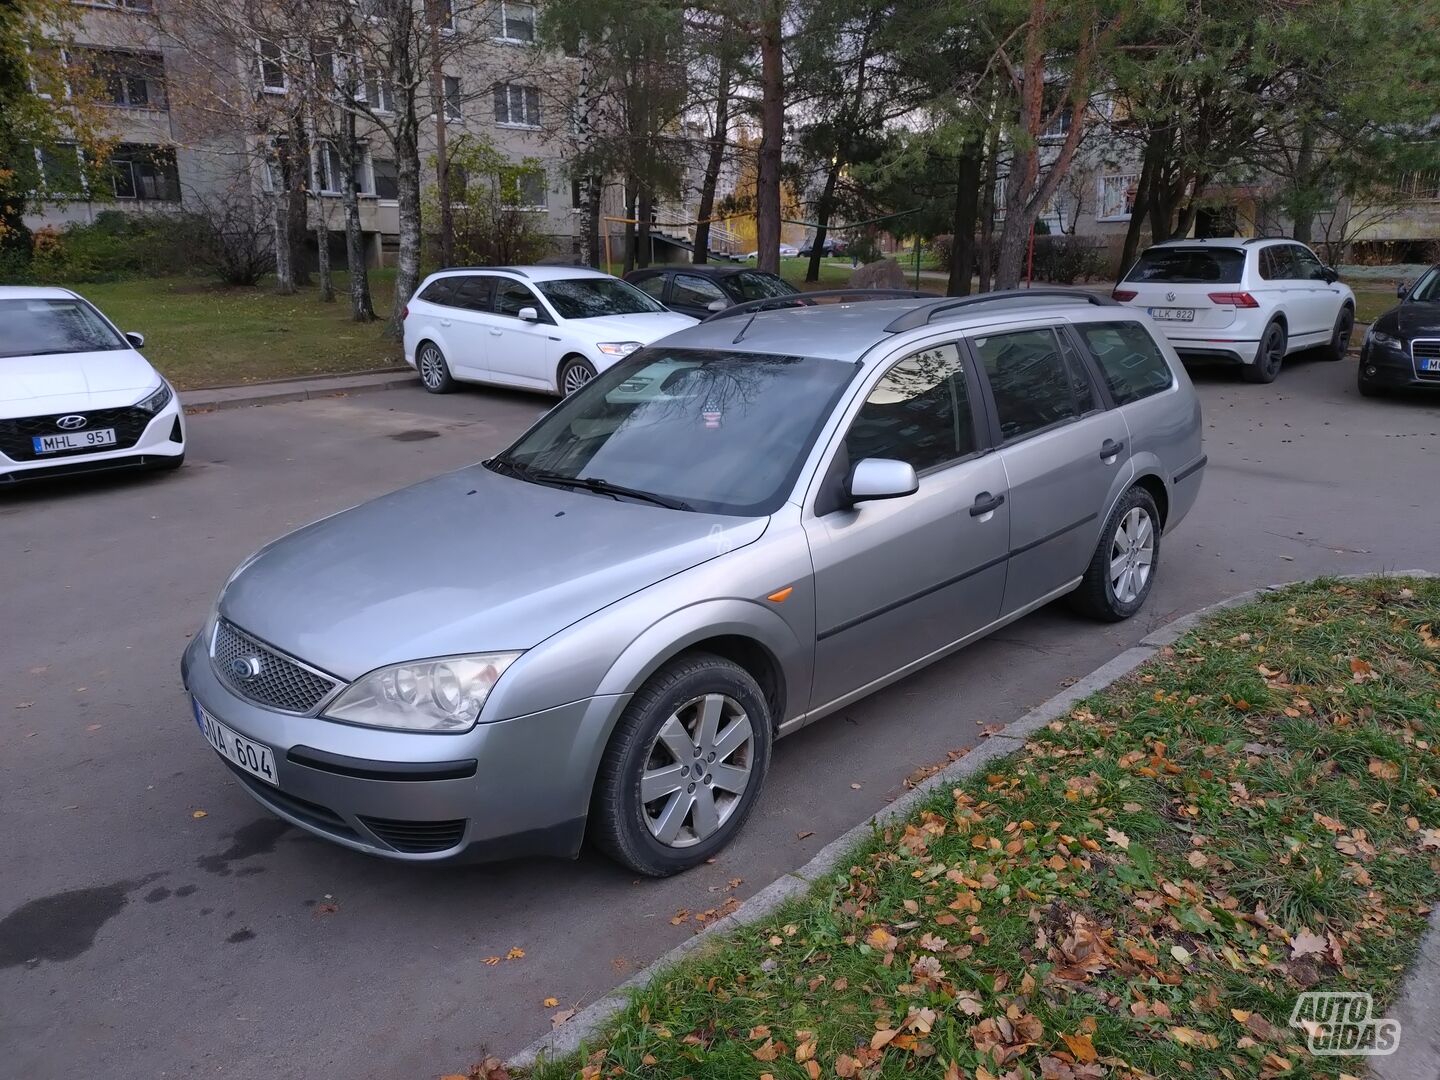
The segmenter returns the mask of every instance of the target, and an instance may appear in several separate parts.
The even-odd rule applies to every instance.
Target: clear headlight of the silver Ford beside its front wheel
[[[351,683],[324,714],[366,727],[468,732],[518,655],[481,652],[380,668]]]

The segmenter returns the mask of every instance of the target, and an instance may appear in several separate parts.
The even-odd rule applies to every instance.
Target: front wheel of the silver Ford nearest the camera
[[[744,825],[770,765],[770,710],[750,674],[693,652],[631,698],[605,747],[595,844],[648,877],[704,863]]]

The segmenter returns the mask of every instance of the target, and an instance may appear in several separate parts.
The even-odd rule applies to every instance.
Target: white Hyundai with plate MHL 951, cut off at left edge
[[[184,410],[144,341],[69,289],[0,287],[0,484],[179,468]]]

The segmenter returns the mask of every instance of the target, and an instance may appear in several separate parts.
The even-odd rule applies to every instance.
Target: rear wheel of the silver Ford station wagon
[[[1070,593],[1076,611],[1120,622],[1145,606],[1161,559],[1161,514],[1149,491],[1136,485],[1120,495],[1100,531],[1080,588]]]

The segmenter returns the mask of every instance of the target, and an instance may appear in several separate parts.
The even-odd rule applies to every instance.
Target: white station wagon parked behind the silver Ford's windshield
[[[562,396],[697,320],[583,266],[452,268],[405,307],[405,361],[431,393],[456,382]]]

